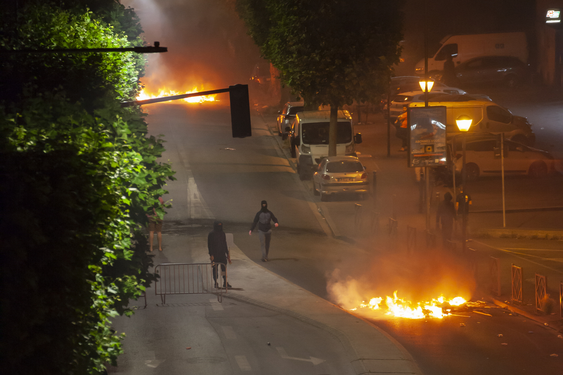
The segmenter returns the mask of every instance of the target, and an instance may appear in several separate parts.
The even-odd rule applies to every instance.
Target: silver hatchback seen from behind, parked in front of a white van
[[[356,157],[323,158],[313,175],[313,193],[320,195],[323,202],[330,195],[341,193],[360,194],[364,198],[368,191],[368,173]]]

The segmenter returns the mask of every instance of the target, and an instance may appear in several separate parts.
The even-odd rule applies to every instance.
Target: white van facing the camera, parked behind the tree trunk
[[[324,157],[328,157],[328,129],[330,111],[298,112],[289,132],[291,156],[297,158],[297,172],[301,180],[311,178],[312,172]],[[346,110],[338,111],[336,155],[356,156],[355,146],[361,134],[354,135],[352,117]]]

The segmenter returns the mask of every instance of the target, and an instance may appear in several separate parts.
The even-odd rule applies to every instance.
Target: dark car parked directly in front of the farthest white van
[[[482,56],[455,68],[460,84],[504,83],[517,86],[527,74],[526,64],[513,56]]]

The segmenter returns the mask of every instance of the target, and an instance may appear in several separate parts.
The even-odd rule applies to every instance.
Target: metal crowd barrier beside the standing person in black
[[[162,303],[166,303],[167,294],[203,294],[217,293],[217,301],[223,301],[223,291],[221,288],[223,277],[227,278],[226,267],[223,270],[220,263],[170,263],[159,264],[154,268],[154,272],[160,275],[155,281],[154,291],[156,296],[160,296]],[[215,286],[213,280],[213,267],[218,271]]]

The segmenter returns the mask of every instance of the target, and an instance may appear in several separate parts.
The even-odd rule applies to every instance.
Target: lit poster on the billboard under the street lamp
[[[445,106],[409,108],[408,166],[437,167],[446,165]]]

